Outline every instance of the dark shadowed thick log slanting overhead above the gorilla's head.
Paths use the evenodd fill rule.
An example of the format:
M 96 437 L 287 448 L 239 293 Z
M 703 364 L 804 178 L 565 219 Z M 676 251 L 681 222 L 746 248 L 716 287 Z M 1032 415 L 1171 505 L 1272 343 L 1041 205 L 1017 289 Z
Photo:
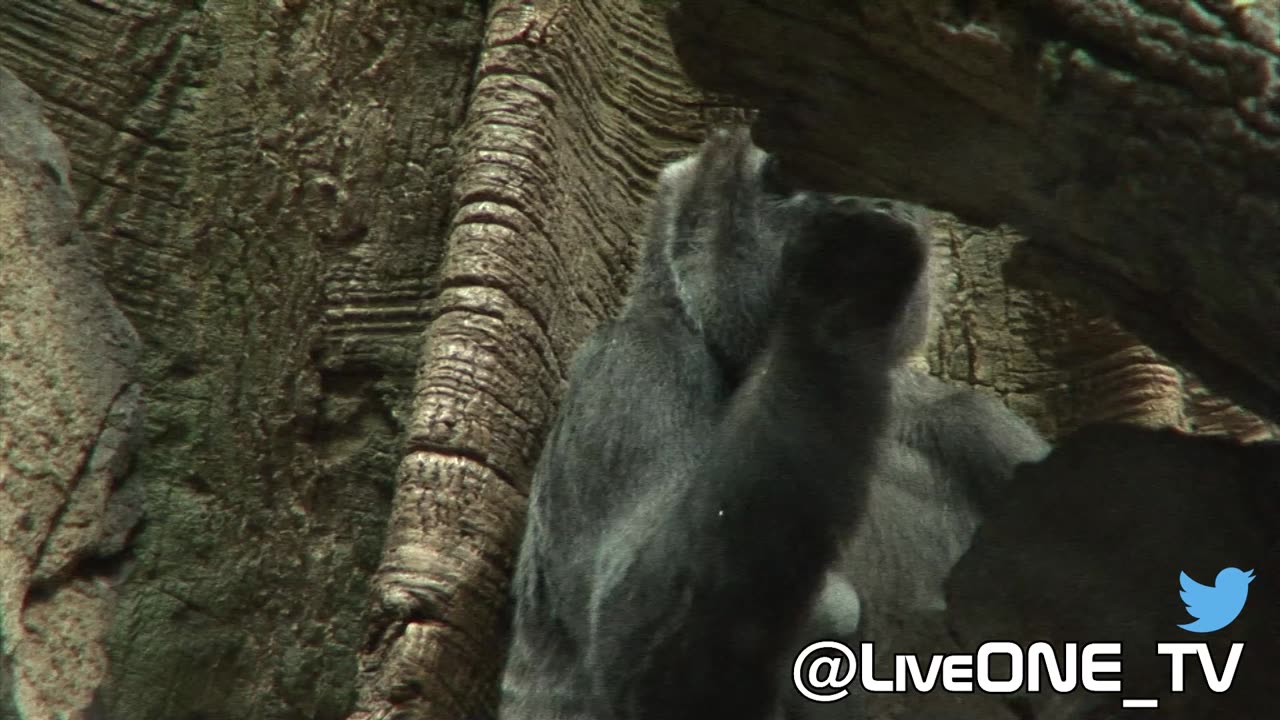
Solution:
M 818 187 L 1027 232 L 1020 277 L 1280 419 L 1280 8 L 685 0 L 692 78 Z

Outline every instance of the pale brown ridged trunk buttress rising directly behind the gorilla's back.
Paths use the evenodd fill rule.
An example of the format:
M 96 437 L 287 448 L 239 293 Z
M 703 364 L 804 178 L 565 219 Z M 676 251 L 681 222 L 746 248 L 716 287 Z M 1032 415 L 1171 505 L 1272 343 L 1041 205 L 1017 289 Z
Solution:
M 616 310 L 657 169 L 704 126 L 660 14 L 494 3 L 355 717 L 485 716 L 532 464 Z

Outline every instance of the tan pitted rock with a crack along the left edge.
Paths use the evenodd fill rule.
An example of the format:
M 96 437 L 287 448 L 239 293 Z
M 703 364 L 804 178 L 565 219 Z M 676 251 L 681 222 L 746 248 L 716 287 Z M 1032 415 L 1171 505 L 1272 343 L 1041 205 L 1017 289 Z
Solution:
M 141 429 L 138 337 L 77 227 L 38 96 L 0 68 L 0 717 L 78 716 L 106 678 Z

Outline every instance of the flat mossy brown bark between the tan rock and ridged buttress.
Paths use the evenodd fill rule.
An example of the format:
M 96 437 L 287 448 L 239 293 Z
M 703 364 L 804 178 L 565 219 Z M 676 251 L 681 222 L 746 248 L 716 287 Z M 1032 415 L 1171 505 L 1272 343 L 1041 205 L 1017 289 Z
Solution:
M 0 64 L 45 97 L 143 341 L 147 515 L 109 717 L 349 712 L 483 20 L 466 0 L 0 3 Z

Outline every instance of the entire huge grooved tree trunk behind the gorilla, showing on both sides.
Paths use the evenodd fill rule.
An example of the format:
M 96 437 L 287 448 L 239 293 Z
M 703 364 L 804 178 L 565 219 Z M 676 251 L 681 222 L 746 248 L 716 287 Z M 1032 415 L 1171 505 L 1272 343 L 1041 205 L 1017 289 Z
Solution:
M 29 0 L 0 4 L 0 64 L 68 145 L 146 391 L 120 486 L 145 516 L 108 548 L 128 580 L 96 626 L 65 628 L 104 662 L 22 716 L 83 708 L 91 685 L 128 720 L 489 715 L 572 352 L 625 293 L 658 169 L 741 122 L 736 101 L 687 85 L 643 0 Z M 874 82 L 905 82 L 893 68 Z M 946 115 L 975 81 L 956 82 L 922 102 Z M 868 167 L 886 174 L 865 187 L 901 187 Z M 1001 197 L 948 173 L 931 183 Z M 1098 419 L 1274 434 L 1097 311 L 1007 287 L 1019 236 L 947 218 L 934 240 L 934 374 L 1051 437 Z M 33 584 L 3 587 L 37 607 Z M 22 632 L 0 625 L 0 646 Z M 0 688 L 23 678 L 5 657 Z

